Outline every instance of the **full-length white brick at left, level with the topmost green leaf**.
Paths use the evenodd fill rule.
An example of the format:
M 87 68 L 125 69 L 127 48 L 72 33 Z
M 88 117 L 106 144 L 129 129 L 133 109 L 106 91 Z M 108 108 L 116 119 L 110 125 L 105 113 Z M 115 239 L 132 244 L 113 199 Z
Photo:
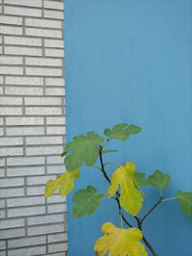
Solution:
M 43 135 L 44 127 L 14 127 L 6 129 L 7 135 Z

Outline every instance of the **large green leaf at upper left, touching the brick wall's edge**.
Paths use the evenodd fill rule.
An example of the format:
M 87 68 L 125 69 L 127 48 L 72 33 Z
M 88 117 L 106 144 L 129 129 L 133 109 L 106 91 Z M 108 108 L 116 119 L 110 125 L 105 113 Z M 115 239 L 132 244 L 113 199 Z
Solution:
M 93 166 L 98 158 L 98 148 L 104 141 L 94 132 L 80 135 L 73 138 L 65 147 L 66 155 L 64 164 L 68 171 L 72 171 L 80 166 Z

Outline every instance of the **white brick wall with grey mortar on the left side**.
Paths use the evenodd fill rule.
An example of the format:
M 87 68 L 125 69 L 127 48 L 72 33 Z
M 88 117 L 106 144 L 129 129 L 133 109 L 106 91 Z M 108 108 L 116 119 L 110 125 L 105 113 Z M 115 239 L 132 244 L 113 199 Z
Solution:
M 0 1 L 0 255 L 66 255 L 63 2 Z

